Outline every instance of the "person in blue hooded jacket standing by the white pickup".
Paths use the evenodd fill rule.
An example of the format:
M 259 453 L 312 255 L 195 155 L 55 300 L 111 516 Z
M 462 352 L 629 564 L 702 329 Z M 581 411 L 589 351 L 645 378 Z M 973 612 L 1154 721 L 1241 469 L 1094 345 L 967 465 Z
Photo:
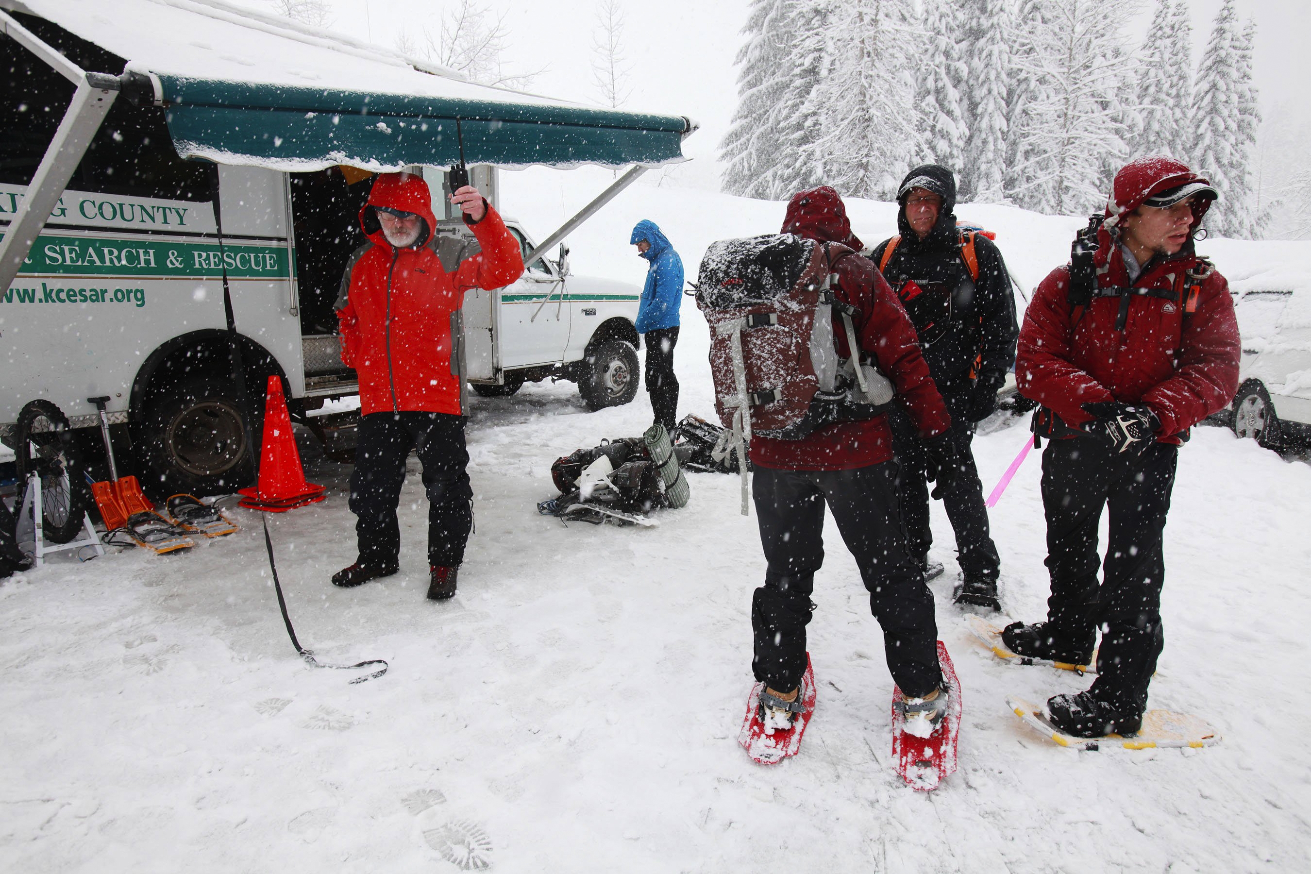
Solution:
M 633 228 L 629 242 L 650 262 L 636 325 L 646 345 L 646 392 L 652 396 L 656 422 L 673 432 L 678 410 L 674 345 L 678 343 L 678 307 L 683 301 L 683 259 L 656 223 L 646 219 Z

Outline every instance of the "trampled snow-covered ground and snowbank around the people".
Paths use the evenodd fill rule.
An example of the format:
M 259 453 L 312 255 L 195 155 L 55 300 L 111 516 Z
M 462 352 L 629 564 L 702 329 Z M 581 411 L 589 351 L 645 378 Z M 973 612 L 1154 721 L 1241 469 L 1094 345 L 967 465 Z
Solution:
M 608 174 L 507 178 L 507 212 L 544 237 Z M 518 186 L 518 187 L 515 187 Z M 566 187 L 568 186 L 568 187 Z M 638 187 L 570 240 L 578 273 L 641 280 L 628 232 L 659 223 L 688 276 L 718 237 L 770 232 L 783 206 Z M 852 204 L 857 232 L 893 207 Z M 961 207 L 995 228 L 1032 287 L 1075 219 Z M 1206 244 L 1222 270 L 1306 265 L 1311 245 Z M 1268 253 L 1268 256 L 1262 256 Z M 1245 273 L 1244 273 L 1245 271 Z M 683 309 L 679 414 L 711 415 L 705 324 Z M 384 658 L 349 685 L 292 651 L 258 514 L 170 557 L 56 560 L 0 584 L 0 870 L 7 871 L 1287 871 L 1311 848 L 1311 469 L 1201 427 L 1165 529 L 1165 653 L 1152 706 L 1224 735 L 1197 751 L 1072 752 L 1003 697 L 1087 680 L 995 660 L 950 605 L 953 544 L 935 504 L 939 628 L 964 687 L 960 770 L 905 788 L 889 757 L 891 681 L 878 626 L 831 527 L 810 653 L 819 684 L 801 753 L 754 765 L 737 746 L 750 687 L 751 590 L 764 571 L 735 480 L 690 474 L 658 528 L 539 516 L 549 465 L 640 434 L 645 393 L 589 414 L 569 384 L 475 402 L 476 533 L 459 595 L 423 598 L 426 507 L 406 482 L 401 574 L 355 590 L 349 468 L 302 443 L 326 502 L 269 518 L 296 632 L 320 658 Z M 991 489 L 1027 439 L 975 440 Z M 992 512 L 1011 616 L 1046 596 L 1040 465 Z M 231 501 L 224 502 L 231 506 Z M 1303 860 L 1298 862 L 1298 860 Z

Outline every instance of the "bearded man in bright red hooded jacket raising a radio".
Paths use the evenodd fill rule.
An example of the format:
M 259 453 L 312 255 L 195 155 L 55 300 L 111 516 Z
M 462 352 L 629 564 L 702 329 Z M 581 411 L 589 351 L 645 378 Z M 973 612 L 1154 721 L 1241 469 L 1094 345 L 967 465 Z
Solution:
M 359 586 L 400 569 L 396 506 L 417 449 L 427 491 L 427 596 L 455 595 L 473 522 L 465 466 L 460 307 L 468 288 L 501 288 L 523 273 L 519 244 L 497 211 L 464 186 L 451 195 L 476 241 L 438 235 L 427 183 L 409 173 L 374 182 L 337 300 L 342 362 L 359 375 L 361 421 L 350 510 L 359 558 L 333 575 Z

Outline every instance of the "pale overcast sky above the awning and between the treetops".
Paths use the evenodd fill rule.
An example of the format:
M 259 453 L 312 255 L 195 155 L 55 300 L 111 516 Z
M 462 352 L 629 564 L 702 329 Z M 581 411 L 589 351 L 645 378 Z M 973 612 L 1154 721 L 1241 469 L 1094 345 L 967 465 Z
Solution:
M 261 0 L 237 0 L 262 7 Z M 531 90 L 553 97 L 597 102 L 591 81 L 591 37 L 595 0 L 484 0 L 503 9 L 510 30 L 511 68 L 547 69 Z M 1193 12 L 1194 54 L 1201 56 L 1211 21 L 1222 0 L 1189 0 Z M 404 29 L 434 33 L 442 0 L 332 0 L 334 30 L 392 46 Z M 674 178 L 683 185 L 717 187 L 716 145 L 737 104 L 733 58 L 746 20 L 747 0 L 645 0 L 623 3 L 628 24 L 624 48 L 632 64 L 633 94 L 627 109 L 691 115 L 701 130 L 691 136 L 684 153 L 696 159 Z M 1131 39 L 1142 38 L 1154 8 L 1142 0 L 1142 13 L 1131 22 Z M 1304 96 L 1311 81 L 1311 0 L 1239 0 L 1242 20 L 1257 22 L 1256 80 L 1268 123 L 1291 117 L 1301 127 L 1311 121 Z

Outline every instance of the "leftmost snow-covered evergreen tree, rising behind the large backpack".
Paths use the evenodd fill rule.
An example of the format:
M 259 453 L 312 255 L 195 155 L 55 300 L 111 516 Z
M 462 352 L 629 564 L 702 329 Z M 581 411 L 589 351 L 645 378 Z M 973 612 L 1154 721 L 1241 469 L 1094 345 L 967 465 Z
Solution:
M 777 122 L 792 71 L 792 31 L 787 0 L 753 0 L 738 50 L 738 106 L 720 143 L 726 165 L 722 189 L 745 197 L 771 197 L 772 170 L 787 160 Z

